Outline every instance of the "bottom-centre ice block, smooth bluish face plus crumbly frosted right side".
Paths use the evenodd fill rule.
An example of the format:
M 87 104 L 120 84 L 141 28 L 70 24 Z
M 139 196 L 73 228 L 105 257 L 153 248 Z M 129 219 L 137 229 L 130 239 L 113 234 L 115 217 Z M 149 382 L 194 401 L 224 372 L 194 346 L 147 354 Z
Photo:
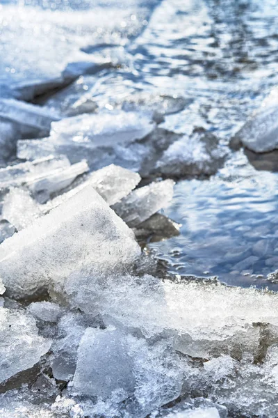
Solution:
M 103 400 L 116 395 L 117 403 L 133 395 L 126 410 L 130 416 L 145 417 L 177 398 L 181 384 L 177 355 L 164 341 L 149 345 L 113 327 L 85 331 L 73 380 L 77 394 Z

